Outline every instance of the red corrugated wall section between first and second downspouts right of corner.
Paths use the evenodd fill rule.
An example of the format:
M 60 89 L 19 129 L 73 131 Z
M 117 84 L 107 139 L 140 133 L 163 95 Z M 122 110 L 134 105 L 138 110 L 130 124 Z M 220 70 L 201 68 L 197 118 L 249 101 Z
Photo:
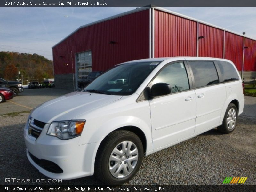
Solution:
M 223 58 L 223 30 L 199 23 L 198 56 Z

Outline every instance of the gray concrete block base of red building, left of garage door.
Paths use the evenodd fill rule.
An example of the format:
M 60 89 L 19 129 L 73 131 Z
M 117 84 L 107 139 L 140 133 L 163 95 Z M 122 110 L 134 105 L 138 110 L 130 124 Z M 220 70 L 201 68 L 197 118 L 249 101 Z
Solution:
M 76 79 L 74 74 L 74 85 L 76 90 Z M 56 89 L 74 89 L 73 74 L 58 74 L 54 75 L 54 84 Z

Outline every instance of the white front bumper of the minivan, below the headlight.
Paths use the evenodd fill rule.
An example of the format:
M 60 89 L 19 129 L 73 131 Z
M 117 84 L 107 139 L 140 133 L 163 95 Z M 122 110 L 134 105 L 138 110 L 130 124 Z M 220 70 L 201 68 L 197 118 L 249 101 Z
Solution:
M 78 145 L 80 137 L 61 140 L 46 135 L 50 124 L 45 124 L 39 137 L 28 134 L 28 123 L 24 128 L 24 139 L 27 147 L 27 157 L 39 172 L 53 179 L 75 179 L 93 175 L 93 153 L 97 143 Z M 42 162 L 57 165 L 59 173 L 47 169 Z M 56 166 L 55 166 L 56 168 Z

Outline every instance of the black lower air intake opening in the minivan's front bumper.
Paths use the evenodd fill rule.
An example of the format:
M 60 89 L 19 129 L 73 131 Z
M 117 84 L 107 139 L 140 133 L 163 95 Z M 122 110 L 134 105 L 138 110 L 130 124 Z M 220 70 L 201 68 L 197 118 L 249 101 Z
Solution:
M 63 173 L 63 170 L 56 163 L 45 159 L 38 159 L 37 157 L 33 156 L 29 151 L 28 154 L 38 166 L 42 167 L 46 171 L 52 173 Z

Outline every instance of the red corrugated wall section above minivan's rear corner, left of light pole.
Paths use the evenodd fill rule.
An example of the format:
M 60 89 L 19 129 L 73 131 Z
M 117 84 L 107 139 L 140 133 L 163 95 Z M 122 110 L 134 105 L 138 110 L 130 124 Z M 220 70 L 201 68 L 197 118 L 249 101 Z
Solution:
M 243 37 L 225 31 L 225 59 L 231 60 L 237 70 L 242 70 Z

